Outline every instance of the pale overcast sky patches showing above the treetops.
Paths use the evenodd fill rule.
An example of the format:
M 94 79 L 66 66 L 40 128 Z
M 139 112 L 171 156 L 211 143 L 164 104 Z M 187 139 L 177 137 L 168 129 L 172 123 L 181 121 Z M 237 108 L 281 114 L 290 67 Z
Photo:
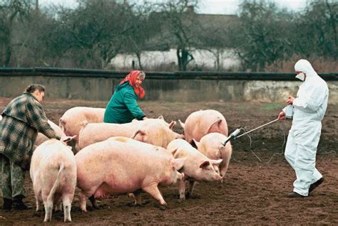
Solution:
M 299 11 L 303 9 L 307 3 L 307 0 L 274 0 L 274 1 L 278 6 L 293 11 Z M 78 5 L 76 0 L 40 0 L 39 2 L 41 6 L 48 6 L 50 4 L 61 4 L 65 7 L 75 8 Z M 200 9 L 198 10 L 198 13 L 236 14 L 239 4 L 240 4 L 239 0 L 200 0 Z

